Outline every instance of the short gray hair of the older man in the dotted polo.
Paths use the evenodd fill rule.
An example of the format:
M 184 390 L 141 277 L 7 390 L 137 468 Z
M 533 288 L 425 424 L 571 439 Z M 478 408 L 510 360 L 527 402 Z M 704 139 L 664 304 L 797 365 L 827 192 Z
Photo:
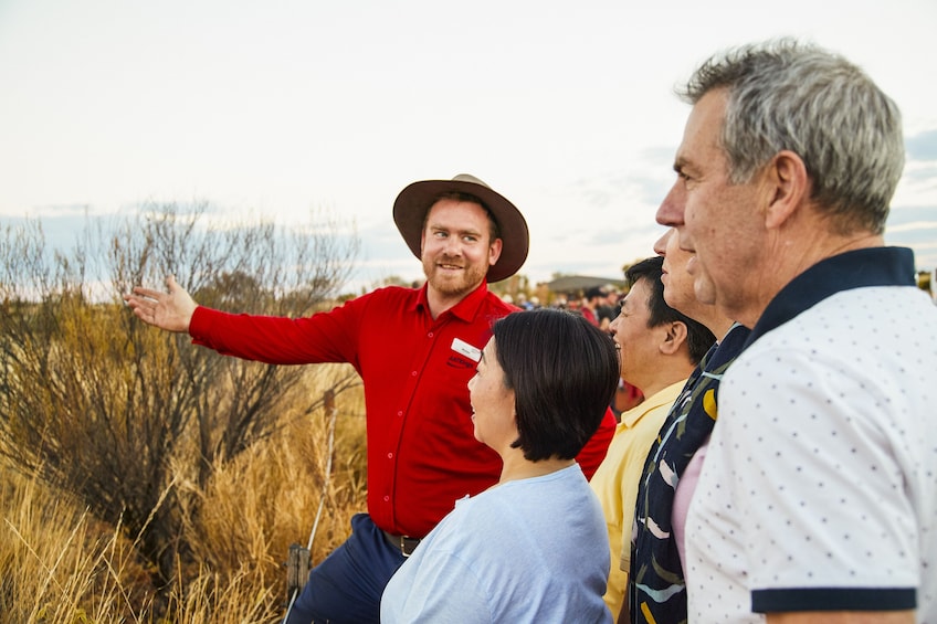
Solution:
M 901 112 L 853 63 L 790 39 L 709 57 L 677 95 L 726 89 L 722 146 L 733 183 L 781 150 L 800 156 L 811 199 L 841 234 L 882 234 L 904 168 Z

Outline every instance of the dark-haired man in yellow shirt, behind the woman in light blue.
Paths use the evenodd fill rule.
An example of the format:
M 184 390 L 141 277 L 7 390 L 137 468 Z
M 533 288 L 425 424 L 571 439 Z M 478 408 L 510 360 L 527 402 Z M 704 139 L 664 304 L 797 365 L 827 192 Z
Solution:
M 664 300 L 663 260 L 650 257 L 625 272 L 631 290 L 609 328 L 621 353 L 621 378 L 645 396 L 621 415 L 606 458 L 590 482 L 609 531 L 611 572 L 604 599 L 614 618 L 628 585 L 629 562 L 620 559 L 630 547 L 622 549 L 622 543 L 631 540 L 638 480 L 648 450 L 687 377 L 716 340 L 705 326 Z

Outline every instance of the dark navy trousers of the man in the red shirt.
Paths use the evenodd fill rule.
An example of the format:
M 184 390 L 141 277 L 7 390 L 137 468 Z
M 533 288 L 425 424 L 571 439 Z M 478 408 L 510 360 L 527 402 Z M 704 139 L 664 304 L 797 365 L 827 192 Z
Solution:
M 383 588 L 404 558 L 367 514 L 351 518 L 351 536 L 309 572 L 287 624 L 380 622 Z

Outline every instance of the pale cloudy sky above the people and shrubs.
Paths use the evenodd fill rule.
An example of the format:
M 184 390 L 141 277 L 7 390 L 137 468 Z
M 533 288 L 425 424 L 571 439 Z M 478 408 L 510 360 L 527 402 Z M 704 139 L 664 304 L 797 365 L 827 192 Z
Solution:
M 421 277 L 391 205 L 468 172 L 527 218 L 520 273 L 621 278 L 663 232 L 688 107 L 727 46 L 791 35 L 863 66 L 908 148 L 889 244 L 937 266 L 935 0 L 0 0 L 0 225 L 147 201 L 354 219 L 355 279 Z M 56 239 L 61 240 L 61 239 Z

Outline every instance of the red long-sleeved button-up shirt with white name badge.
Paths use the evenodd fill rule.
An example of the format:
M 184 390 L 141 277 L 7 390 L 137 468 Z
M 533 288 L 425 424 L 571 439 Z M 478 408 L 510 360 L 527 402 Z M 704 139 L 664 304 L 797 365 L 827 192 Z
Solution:
M 483 283 L 434 320 L 425 286 L 388 287 L 299 319 L 199 307 L 189 334 L 220 353 L 267 363 L 351 363 L 365 387 L 368 511 L 383 530 L 422 537 L 456 499 L 501 475 L 501 457 L 474 437 L 467 383 L 477 363 L 471 347 L 481 352 L 492 322 L 515 310 Z M 579 455 L 587 477 L 614 425 L 609 411 Z

